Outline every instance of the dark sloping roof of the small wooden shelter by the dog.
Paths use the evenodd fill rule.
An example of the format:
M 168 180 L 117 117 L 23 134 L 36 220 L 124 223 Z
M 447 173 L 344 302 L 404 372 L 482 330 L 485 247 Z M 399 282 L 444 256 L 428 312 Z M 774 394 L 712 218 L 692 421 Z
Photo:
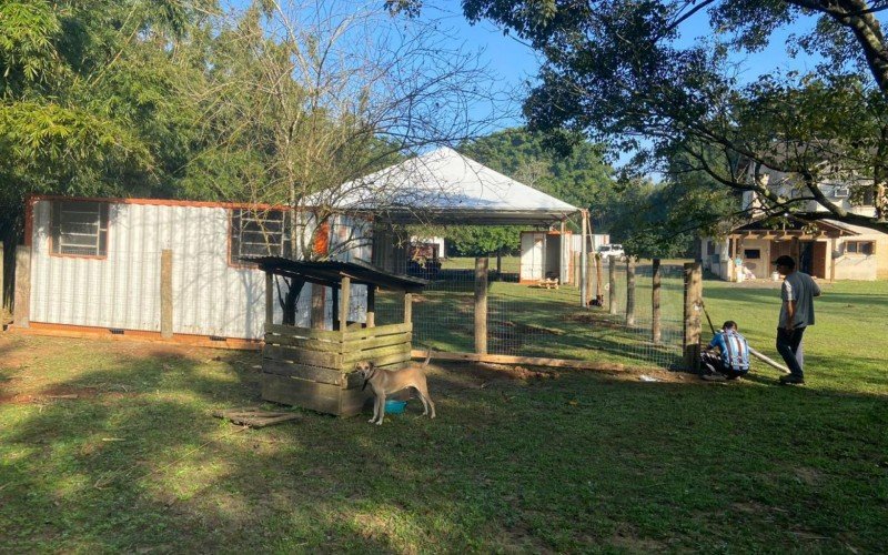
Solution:
M 281 256 L 244 256 L 241 260 L 256 264 L 263 272 L 330 287 L 340 286 L 343 278 L 349 278 L 353 284 L 408 293 L 421 291 L 428 284 L 428 280 L 386 272 L 363 261 L 307 262 Z

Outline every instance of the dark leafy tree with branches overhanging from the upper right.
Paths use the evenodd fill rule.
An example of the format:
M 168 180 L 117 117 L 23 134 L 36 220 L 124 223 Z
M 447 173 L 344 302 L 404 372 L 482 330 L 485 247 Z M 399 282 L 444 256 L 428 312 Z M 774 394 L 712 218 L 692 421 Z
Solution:
M 888 44 L 877 18 L 888 1 L 464 0 L 463 8 L 544 56 L 524 109 L 553 145 L 568 149 L 577 135 L 607 141 L 638 151 L 640 171 L 703 172 L 753 191 L 767 213 L 814 201 L 826 212 L 808 218 L 888 231 Z M 712 34 L 682 37 L 683 26 L 706 16 Z M 816 26 L 793 38 L 793 53 L 823 62 L 808 73 L 769 68 L 743 80 L 731 54 L 760 50 L 803 18 Z M 757 179 L 764 168 L 789 175 L 795 195 Z M 826 198 L 819 184 L 834 180 L 871 194 L 875 215 Z

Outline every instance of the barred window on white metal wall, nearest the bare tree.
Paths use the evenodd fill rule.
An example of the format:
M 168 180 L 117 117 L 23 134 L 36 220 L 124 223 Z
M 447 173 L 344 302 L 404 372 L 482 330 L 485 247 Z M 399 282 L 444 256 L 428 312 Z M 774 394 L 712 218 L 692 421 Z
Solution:
M 290 253 L 289 218 L 281 210 L 235 209 L 231 212 L 229 260 L 242 256 L 286 256 Z

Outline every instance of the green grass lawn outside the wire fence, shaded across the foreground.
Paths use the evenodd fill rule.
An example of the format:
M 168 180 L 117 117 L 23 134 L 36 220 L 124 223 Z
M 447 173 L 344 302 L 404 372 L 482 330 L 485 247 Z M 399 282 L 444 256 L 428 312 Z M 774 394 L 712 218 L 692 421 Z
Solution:
M 773 354 L 744 285 L 707 307 Z M 255 354 L 0 335 L 0 552 L 879 552 L 888 282 L 824 289 L 804 387 L 436 366 L 381 427 L 213 418 Z

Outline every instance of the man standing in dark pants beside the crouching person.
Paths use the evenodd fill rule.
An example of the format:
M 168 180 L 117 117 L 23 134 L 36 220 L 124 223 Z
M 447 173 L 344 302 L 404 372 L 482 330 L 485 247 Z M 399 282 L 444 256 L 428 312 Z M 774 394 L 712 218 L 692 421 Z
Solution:
M 780 383 L 804 384 L 801 336 L 807 326 L 814 325 L 814 297 L 820 296 L 820 287 L 810 275 L 796 271 L 796 261 L 791 256 L 778 256 L 774 264 L 777 266 L 777 272 L 784 276 L 777 351 L 790 372 L 789 375 L 780 377 Z

